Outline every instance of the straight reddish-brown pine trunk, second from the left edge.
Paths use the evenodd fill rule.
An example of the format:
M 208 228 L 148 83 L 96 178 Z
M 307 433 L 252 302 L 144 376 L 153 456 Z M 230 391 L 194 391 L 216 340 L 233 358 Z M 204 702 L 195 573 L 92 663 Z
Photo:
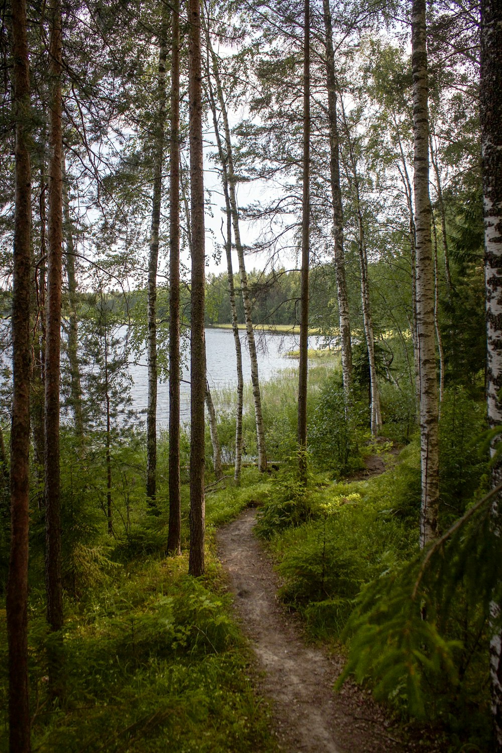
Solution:
M 61 347 L 62 286 L 62 120 L 61 120 L 61 5 L 50 5 L 50 159 L 49 238 L 47 248 L 47 325 L 45 347 L 45 578 L 47 621 L 53 632 L 62 628 L 61 522 L 59 498 L 59 353 Z M 61 636 L 62 640 L 62 636 Z M 56 646 L 56 643 L 53 644 Z M 53 696 L 61 693 L 59 651 L 50 651 L 49 683 Z

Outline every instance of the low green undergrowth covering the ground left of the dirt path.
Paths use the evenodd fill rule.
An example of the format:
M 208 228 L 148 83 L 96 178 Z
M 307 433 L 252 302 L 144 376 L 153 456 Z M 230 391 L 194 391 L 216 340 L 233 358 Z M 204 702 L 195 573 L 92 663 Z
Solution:
M 208 495 L 209 544 L 211 526 L 238 514 L 252 489 Z M 162 517 L 151 517 L 143 530 L 136 527 L 134 544 L 118 541 L 81 553 L 87 587 L 79 599 L 65 599 L 64 697 L 56 706 L 47 698 L 44 597 L 41 586 L 32 591 L 33 750 L 275 750 L 268 708 L 254 691 L 251 651 L 231 614 L 213 547 L 205 577 L 195 579 L 187 575 L 186 550 L 175 558 L 145 554 L 161 540 L 165 546 Z M 0 633 L 0 751 L 7 751 L 5 611 Z

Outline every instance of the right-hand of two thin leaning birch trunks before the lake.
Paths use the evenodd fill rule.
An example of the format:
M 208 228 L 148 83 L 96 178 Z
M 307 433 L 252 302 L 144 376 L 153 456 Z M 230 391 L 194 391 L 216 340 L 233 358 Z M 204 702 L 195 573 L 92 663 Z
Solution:
M 228 166 L 228 184 L 230 207 L 232 209 L 233 235 L 236 240 L 237 258 L 239 259 L 239 276 L 241 280 L 242 303 L 244 306 L 246 334 L 248 337 L 249 358 L 251 361 L 251 385 L 253 388 L 254 416 L 256 419 L 257 447 L 258 447 L 258 468 L 260 471 L 266 471 L 266 450 L 265 450 L 265 426 L 263 424 L 263 415 L 261 410 L 260 395 L 260 378 L 258 376 L 258 359 L 256 352 L 256 343 L 254 341 L 253 319 L 251 314 L 251 298 L 248 289 L 248 276 L 246 274 L 244 247 L 241 241 L 239 228 L 239 208 L 237 206 L 236 196 L 236 174 L 233 167 L 232 142 L 230 139 L 230 124 L 228 120 L 227 105 L 225 104 L 223 89 L 221 87 L 220 72 L 218 70 L 218 59 L 211 47 L 211 40 L 206 29 L 206 40 L 209 52 L 211 53 L 211 62 L 220 104 L 221 116 L 224 122 L 227 166 Z

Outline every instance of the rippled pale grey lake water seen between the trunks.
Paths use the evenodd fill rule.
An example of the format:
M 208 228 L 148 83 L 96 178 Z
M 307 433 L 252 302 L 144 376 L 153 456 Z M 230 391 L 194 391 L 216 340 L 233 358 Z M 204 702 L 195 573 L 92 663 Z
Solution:
M 246 333 L 239 331 L 242 344 L 242 371 L 245 383 L 251 383 L 251 361 Z M 287 358 L 286 352 L 299 349 L 299 335 L 255 332 L 260 381 L 271 379 L 284 368 L 298 368 L 298 361 Z M 317 337 L 310 338 L 309 347 L 317 346 Z M 211 390 L 237 386 L 236 348 L 231 329 L 205 329 L 206 373 Z M 189 354 L 186 356 L 190 358 Z M 132 407 L 145 416 L 148 399 L 148 370 L 146 356 L 130 367 L 133 380 Z M 190 365 L 184 367 L 181 383 L 181 420 L 190 420 Z M 157 428 L 169 426 L 169 384 L 157 387 Z

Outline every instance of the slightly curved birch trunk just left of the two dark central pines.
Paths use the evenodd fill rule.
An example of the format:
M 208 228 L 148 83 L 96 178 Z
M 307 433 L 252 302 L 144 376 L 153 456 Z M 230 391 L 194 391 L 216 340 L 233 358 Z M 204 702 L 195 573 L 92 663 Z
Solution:
M 150 258 L 148 261 L 148 407 L 147 407 L 147 498 L 156 507 L 157 491 L 157 264 L 159 258 L 160 202 L 166 127 L 167 5 L 162 5 L 157 78 L 158 112 L 154 128 L 154 197 L 151 211 Z

